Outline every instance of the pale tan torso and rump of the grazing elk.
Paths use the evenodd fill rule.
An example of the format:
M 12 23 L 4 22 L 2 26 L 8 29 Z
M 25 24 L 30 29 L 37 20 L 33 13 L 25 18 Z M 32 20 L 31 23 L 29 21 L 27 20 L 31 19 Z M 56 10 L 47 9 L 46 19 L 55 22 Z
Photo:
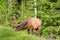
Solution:
M 28 28 L 36 29 L 37 27 L 40 27 L 42 24 L 42 21 L 38 18 L 28 18 L 26 21 L 28 22 L 27 24 Z

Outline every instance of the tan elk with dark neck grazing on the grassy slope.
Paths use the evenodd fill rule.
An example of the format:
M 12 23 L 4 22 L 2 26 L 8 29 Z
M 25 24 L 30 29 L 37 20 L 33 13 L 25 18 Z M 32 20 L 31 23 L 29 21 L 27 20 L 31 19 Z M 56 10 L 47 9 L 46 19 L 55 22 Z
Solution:
M 37 36 L 40 36 L 41 25 L 42 21 L 38 18 L 26 18 L 20 24 L 17 23 L 16 26 L 13 26 L 16 27 L 16 31 L 27 29 L 28 34 L 30 34 L 30 30 L 32 31 L 32 34 L 34 34 L 33 30 L 36 30 Z

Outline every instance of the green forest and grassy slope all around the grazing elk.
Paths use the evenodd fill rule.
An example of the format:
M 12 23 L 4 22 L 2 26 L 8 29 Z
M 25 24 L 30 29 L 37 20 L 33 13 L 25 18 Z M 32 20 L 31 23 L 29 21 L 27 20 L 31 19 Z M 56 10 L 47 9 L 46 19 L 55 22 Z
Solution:
M 27 29 L 19 32 L 13 26 L 24 18 L 42 20 L 40 37 L 28 34 Z M 60 0 L 0 0 L 0 40 L 60 40 Z

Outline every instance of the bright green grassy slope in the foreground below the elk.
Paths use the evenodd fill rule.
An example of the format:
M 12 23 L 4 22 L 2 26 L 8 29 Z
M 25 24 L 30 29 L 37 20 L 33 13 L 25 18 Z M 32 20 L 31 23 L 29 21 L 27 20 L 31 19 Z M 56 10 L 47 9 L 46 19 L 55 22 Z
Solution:
M 60 36 L 57 36 L 56 40 L 59 40 Z M 37 37 L 27 33 L 27 30 L 16 32 L 11 27 L 0 27 L 0 40 L 48 40 L 46 37 Z

